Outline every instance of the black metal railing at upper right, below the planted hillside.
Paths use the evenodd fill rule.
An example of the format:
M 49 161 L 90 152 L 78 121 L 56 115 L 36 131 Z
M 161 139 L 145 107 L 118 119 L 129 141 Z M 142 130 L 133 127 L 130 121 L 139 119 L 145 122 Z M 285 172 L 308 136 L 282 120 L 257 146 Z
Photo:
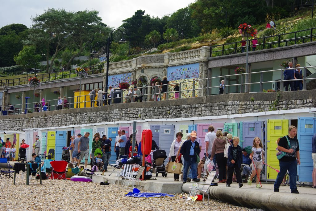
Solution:
M 261 38 L 256 38 L 258 40 L 258 44 L 256 50 L 263 50 L 263 49 L 270 49 L 274 47 L 281 47 L 297 44 L 298 42 L 306 43 L 313 41 L 313 38 L 316 38 L 315 32 L 316 27 L 305 29 L 296 32 L 289 32 L 284 34 L 277 34 L 272 36 L 266 36 Z M 301 33 L 309 32 L 309 35 L 299 36 Z M 283 36 L 291 37 L 293 35 L 294 38 L 283 39 Z M 251 42 L 248 42 L 248 48 L 251 47 Z M 246 46 L 245 46 L 246 47 Z M 221 45 L 213 45 L 210 46 L 210 57 L 214 56 L 224 56 L 230 54 L 237 54 L 241 52 L 241 41 L 234 42 L 234 43 L 226 43 Z M 246 52 L 246 51 L 244 51 Z

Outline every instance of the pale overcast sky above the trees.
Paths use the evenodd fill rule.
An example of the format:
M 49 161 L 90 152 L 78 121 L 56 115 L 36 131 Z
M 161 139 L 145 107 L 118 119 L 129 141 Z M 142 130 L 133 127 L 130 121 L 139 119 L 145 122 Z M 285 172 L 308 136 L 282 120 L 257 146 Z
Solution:
M 103 23 L 110 27 L 119 27 L 122 20 L 134 15 L 138 9 L 161 18 L 193 2 L 195 0 L 0 0 L 0 27 L 12 23 L 22 23 L 30 27 L 31 17 L 43 14 L 47 8 L 63 8 L 67 11 L 98 10 Z

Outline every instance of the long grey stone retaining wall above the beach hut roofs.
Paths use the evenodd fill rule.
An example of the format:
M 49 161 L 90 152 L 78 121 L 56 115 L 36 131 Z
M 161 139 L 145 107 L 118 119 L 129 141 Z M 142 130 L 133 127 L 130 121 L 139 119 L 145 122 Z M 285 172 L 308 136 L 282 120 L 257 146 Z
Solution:
M 0 130 L 263 112 L 271 109 L 276 98 L 277 93 L 240 93 L 0 116 Z M 310 90 L 281 92 L 279 99 L 276 110 L 316 107 L 316 96 Z

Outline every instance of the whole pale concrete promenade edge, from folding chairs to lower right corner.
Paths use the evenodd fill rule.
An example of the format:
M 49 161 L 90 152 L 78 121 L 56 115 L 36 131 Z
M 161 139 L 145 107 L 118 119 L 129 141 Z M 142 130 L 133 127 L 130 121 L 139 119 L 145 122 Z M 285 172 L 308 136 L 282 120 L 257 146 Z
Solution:
M 109 168 L 110 170 L 110 168 Z M 115 173 L 111 176 L 109 172 L 104 173 L 104 176 L 100 172 L 94 175 L 93 182 L 100 183 L 108 181 L 110 184 L 114 184 Z M 156 178 L 155 175 L 153 178 Z M 120 183 L 123 183 L 123 179 L 119 179 Z M 216 179 L 215 182 L 218 180 Z M 167 177 L 158 175 L 157 179 L 149 179 L 140 181 L 140 186 L 146 191 L 162 192 L 162 193 L 181 193 L 188 192 L 191 187 L 191 183 L 182 183 L 181 181 L 173 181 L 173 174 L 168 173 Z M 238 206 L 248 208 L 261 208 L 264 210 L 279 210 L 279 211 L 309 211 L 316 210 L 316 189 L 310 186 L 298 186 L 300 194 L 292 194 L 289 185 L 281 186 L 280 192 L 275 193 L 273 191 L 272 183 L 262 183 L 262 188 L 257 189 L 255 184 L 249 186 L 244 183 L 242 188 L 238 188 L 237 183 L 233 183 L 230 188 L 226 187 L 226 184 L 218 184 L 218 186 L 210 187 L 210 198 L 216 199 L 222 202 L 232 203 Z

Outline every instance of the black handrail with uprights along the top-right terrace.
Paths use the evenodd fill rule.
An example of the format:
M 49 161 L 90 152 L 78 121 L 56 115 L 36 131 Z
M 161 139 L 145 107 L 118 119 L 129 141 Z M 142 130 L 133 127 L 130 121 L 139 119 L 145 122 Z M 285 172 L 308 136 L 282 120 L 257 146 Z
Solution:
M 257 40 L 261 40 L 262 42 L 258 42 L 257 46 L 262 46 L 262 49 L 269 49 L 272 48 L 272 45 L 277 44 L 277 47 L 281 46 L 281 43 L 285 43 L 285 46 L 288 46 L 288 44 L 291 44 L 289 42 L 294 41 L 294 44 L 297 44 L 297 41 L 302 40 L 303 43 L 312 41 L 313 38 L 315 38 L 316 34 L 313 34 L 313 30 L 316 29 L 314 28 L 309 28 L 309 29 L 304 29 L 300 31 L 295 31 L 295 32 L 288 32 L 284 34 L 277 34 L 277 35 L 271 35 L 271 36 L 266 36 L 266 37 L 261 37 L 261 38 L 256 38 Z M 307 32 L 310 31 L 310 35 L 305 35 L 301 37 L 297 37 L 297 34 L 300 32 Z M 282 36 L 284 35 L 289 35 L 289 34 L 294 34 L 294 38 L 289 38 L 289 39 L 281 39 Z M 277 40 L 274 40 L 277 38 Z M 269 41 L 269 39 L 271 41 Z M 210 57 L 212 56 L 224 56 L 232 53 L 239 53 L 241 46 L 238 46 L 241 41 L 233 42 L 233 43 L 226 43 L 226 44 L 221 44 L 221 45 L 213 45 L 210 46 Z M 225 49 L 225 46 L 228 46 L 227 49 Z M 234 46 L 233 48 L 230 46 Z M 250 47 L 250 42 L 248 42 L 248 47 Z M 218 49 L 218 50 L 216 50 Z M 233 52 L 230 52 L 230 50 L 234 50 Z M 228 53 L 227 53 L 228 51 Z M 237 52 L 238 51 L 238 52 Z M 220 55 L 213 55 L 216 52 L 221 52 Z M 225 54 L 226 53 L 226 54 Z

